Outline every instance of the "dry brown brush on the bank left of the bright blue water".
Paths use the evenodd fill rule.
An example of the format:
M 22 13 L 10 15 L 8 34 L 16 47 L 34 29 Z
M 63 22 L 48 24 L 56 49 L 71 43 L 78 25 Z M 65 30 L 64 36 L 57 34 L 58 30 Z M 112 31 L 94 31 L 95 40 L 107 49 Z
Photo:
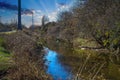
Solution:
M 7 48 L 13 53 L 13 67 L 9 71 L 11 80 L 45 80 L 43 52 L 36 40 L 20 31 L 6 36 Z

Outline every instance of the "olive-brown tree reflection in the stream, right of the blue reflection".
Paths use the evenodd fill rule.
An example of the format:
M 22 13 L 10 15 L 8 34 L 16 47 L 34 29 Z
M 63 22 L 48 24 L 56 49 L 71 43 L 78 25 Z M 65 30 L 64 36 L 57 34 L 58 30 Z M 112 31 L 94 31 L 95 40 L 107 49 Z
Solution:
M 77 77 L 85 79 L 111 79 L 112 72 L 118 73 L 115 76 L 119 76 L 119 72 L 114 69 L 119 69 L 114 62 L 116 62 L 113 56 L 113 63 L 109 58 L 109 52 L 84 50 L 74 51 L 72 43 L 65 41 L 57 41 L 52 39 L 47 41 L 47 45 L 50 49 L 63 55 L 59 57 L 60 61 L 64 65 L 71 67 L 71 71 L 77 74 Z M 113 69 L 111 69 L 113 67 Z M 115 77 L 114 75 L 112 75 Z M 119 79 L 119 78 L 116 78 Z

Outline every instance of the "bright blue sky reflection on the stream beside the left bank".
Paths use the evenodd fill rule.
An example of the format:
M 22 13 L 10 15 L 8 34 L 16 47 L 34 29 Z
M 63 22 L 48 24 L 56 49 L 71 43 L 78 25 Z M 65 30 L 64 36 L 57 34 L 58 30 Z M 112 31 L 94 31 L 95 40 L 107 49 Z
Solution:
M 67 80 L 70 77 L 70 72 L 65 69 L 64 65 L 62 65 L 58 60 L 58 53 L 55 51 L 47 50 L 47 54 L 45 56 L 46 65 L 47 65 L 47 73 L 50 74 L 54 80 Z

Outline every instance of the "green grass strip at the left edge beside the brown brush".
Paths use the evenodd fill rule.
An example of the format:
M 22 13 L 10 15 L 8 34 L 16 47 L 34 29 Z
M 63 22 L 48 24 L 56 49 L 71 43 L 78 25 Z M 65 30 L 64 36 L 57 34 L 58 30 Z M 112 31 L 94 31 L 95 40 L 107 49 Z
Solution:
M 0 79 L 6 74 L 11 67 L 11 54 L 4 46 L 4 38 L 0 37 Z

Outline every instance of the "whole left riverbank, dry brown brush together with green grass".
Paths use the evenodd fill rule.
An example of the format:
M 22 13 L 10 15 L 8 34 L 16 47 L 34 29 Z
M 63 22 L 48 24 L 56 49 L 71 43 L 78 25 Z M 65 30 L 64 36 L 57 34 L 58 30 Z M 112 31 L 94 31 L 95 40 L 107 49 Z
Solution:
M 10 54 L 2 53 L 1 51 L 5 51 L 3 48 L 0 48 L 0 56 L 2 56 L 0 61 L 4 64 L 7 64 L 9 61 L 11 62 L 10 68 L 4 64 L 3 67 L 0 66 L 2 70 L 1 80 L 49 79 L 49 76 L 45 73 L 43 47 L 37 42 L 36 36 L 31 34 L 34 33 L 30 31 L 17 31 L 10 34 L 1 34 L 5 40 L 5 48 Z

